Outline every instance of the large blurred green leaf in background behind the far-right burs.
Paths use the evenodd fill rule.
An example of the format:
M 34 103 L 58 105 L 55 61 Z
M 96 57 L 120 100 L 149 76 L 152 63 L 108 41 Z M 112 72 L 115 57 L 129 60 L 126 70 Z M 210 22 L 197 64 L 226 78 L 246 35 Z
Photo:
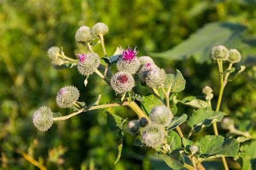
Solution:
M 205 25 L 196 33 L 190 36 L 183 43 L 159 53 L 151 53 L 154 57 L 161 57 L 170 60 L 184 60 L 191 56 L 197 62 L 209 60 L 209 54 L 213 46 L 225 45 L 236 47 L 234 42 L 246 30 L 246 26 L 228 22 L 215 22 Z

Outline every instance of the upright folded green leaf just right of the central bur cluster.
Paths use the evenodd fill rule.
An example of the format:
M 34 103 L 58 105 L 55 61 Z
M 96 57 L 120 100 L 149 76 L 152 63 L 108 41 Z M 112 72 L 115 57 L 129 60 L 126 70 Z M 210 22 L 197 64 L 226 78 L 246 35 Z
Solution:
M 164 86 L 167 94 L 170 94 L 170 92 L 181 92 L 185 89 L 186 80 L 183 78 L 179 70 L 176 71 L 177 73 L 175 75 L 167 74 L 165 79 Z

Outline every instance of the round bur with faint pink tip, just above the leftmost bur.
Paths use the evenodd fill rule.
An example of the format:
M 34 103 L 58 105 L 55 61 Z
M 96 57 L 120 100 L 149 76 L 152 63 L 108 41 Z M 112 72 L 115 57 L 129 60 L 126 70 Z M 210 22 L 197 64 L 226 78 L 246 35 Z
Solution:
M 75 86 L 62 87 L 56 96 L 56 103 L 60 108 L 71 107 L 77 102 L 79 95 L 79 90 Z

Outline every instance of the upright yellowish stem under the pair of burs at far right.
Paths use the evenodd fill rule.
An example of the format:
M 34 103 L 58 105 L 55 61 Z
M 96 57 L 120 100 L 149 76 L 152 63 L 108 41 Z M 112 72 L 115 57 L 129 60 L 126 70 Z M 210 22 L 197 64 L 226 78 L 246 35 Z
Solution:
M 223 74 L 223 61 L 222 60 L 217 60 L 218 62 L 218 66 L 219 66 L 219 73 L 220 73 L 220 90 L 219 90 L 219 98 L 218 98 L 218 103 L 216 106 L 216 110 L 215 111 L 219 111 L 220 110 L 220 104 L 221 104 L 221 99 L 223 97 L 223 92 L 224 92 L 224 74 Z M 232 66 L 232 65 L 231 65 Z M 217 122 L 214 121 L 213 122 L 213 131 L 215 135 L 219 135 L 218 133 L 218 128 L 217 128 Z M 227 161 L 225 159 L 225 157 L 221 157 L 221 160 L 223 162 L 224 168 L 225 170 L 228 170 L 228 166 L 227 166 Z

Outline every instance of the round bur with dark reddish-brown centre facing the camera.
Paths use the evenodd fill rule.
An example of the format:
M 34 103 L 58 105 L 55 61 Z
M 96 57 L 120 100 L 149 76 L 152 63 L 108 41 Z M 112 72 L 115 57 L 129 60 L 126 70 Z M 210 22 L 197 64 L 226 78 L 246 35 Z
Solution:
M 110 84 L 117 94 L 122 94 L 132 90 L 134 87 L 134 79 L 129 73 L 117 72 L 112 76 Z

